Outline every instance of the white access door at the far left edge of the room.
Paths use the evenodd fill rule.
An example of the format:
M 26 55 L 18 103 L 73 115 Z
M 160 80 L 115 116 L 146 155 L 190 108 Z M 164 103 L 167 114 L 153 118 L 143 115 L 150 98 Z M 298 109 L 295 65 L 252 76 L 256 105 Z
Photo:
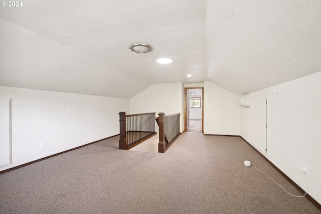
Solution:
M 11 98 L 0 97 L 0 167 L 11 164 L 10 102 Z

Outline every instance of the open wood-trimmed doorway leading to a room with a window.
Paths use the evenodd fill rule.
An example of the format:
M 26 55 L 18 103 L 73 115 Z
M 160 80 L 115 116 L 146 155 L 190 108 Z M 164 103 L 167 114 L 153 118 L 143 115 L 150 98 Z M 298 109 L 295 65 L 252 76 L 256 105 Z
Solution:
M 184 121 L 185 132 L 202 132 L 204 125 L 204 87 L 185 88 Z

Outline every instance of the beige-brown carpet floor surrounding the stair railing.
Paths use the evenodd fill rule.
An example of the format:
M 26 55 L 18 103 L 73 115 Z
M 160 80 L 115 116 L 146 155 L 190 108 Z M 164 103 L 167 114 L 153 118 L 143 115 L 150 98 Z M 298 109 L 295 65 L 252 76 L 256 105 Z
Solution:
M 0 213 L 321 213 L 239 137 L 186 132 L 162 153 L 118 137 L 0 174 Z

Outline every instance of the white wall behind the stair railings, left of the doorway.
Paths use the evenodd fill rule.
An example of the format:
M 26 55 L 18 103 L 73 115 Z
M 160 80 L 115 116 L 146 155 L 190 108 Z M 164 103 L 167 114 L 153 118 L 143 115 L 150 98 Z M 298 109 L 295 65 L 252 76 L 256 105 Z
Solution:
M 160 112 L 166 115 L 181 113 L 180 132 L 183 132 L 182 88 L 181 82 L 152 84 L 130 98 L 130 113 L 127 115 L 155 112 L 155 117 L 158 117 Z

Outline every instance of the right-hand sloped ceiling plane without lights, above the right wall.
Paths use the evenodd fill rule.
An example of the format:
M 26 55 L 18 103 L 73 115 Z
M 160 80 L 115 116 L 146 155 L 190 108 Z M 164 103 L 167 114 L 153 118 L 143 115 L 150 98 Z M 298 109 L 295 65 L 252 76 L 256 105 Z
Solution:
M 246 94 L 321 71 L 321 1 L 208 1 L 208 79 Z

